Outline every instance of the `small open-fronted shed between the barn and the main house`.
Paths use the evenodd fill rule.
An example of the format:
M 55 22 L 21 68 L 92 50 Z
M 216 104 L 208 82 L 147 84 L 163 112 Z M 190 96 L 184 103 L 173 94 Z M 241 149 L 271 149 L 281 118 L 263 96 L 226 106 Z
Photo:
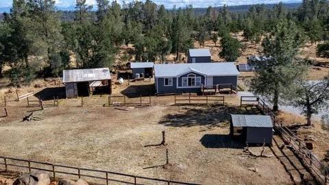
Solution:
M 132 78 L 152 77 L 153 66 L 153 62 L 130 62 L 130 68 L 132 69 Z

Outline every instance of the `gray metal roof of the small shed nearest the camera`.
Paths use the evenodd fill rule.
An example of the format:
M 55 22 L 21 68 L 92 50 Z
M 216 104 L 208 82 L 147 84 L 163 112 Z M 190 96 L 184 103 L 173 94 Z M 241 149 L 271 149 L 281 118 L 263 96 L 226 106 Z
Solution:
M 271 116 L 231 114 L 234 127 L 273 127 Z

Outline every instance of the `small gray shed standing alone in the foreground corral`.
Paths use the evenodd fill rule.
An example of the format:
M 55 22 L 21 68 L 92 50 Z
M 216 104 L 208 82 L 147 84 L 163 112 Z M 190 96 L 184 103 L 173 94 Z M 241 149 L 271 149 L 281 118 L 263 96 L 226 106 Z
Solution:
M 272 144 L 271 116 L 231 114 L 230 136 L 242 136 L 252 144 Z

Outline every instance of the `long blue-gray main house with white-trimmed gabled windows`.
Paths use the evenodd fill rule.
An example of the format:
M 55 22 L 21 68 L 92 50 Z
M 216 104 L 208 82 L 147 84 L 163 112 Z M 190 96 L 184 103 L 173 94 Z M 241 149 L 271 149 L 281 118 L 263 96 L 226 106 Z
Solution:
M 233 62 L 154 64 L 154 74 L 157 94 L 199 93 L 236 87 L 239 71 Z

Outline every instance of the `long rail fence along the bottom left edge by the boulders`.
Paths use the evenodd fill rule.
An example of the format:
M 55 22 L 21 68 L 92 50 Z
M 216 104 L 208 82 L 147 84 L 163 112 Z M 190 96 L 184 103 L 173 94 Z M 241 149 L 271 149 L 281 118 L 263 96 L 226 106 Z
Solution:
M 23 160 L 17 158 L 6 158 L 0 156 L 0 169 L 5 171 L 17 171 L 31 173 L 33 170 L 45 171 L 50 173 L 55 180 L 65 178 L 67 175 L 74 178 L 84 177 L 84 180 L 95 184 L 191 184 L 188 182 L 176 182 L 171 180 L 162 180 L 138 175 L 129 175 L 112 171 L 103 171 L 95 169 L 85 169 L 69 167 L 60 164 L 51 164 L 47 162 L 37 162 L 33 160 Z M 64 176 L 63 176 L 64 175 Z M 197 184 L 195 184 L 197 185 Z

